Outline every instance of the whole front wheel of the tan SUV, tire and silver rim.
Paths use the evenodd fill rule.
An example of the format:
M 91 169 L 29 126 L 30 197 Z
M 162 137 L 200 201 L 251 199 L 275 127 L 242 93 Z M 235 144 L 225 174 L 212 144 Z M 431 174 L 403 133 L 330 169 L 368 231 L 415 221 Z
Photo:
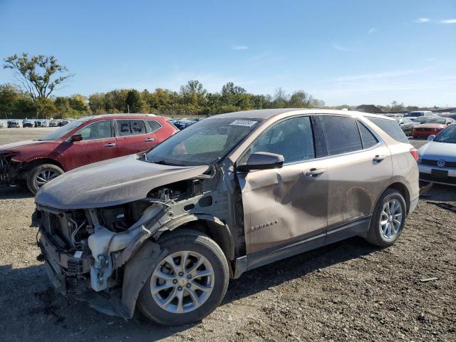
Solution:
M 161 260 L 154 261 L 152 274 L 140 291 L 138 307 L 147 318 L 165 326 L 201 321 L 219 306 L 227 292 L 229 268 L 222 249 L 207 235 L 187 229 L 172 232 L 164 239 L 159 239 L 158 243 L 162 249 L 167 249 L 167 254 L 160 258 Z M 180 270 L 180 263 L 184 258 L 180 256 L 185 252 L 189 252 L 184 267 L 185 273 L 179 276 L 180 272 L 176 273 L 176 271 Z M 192 268 L 197 265 L 197 260 L 204 260 L 196 259 L 198 255 L 204 257 L 205 261 L 195 271 Z M 177 267 L 169 267 L 171 264 L 168 261 L 173 262 Z M 176 262 L 179 264 L 177 265 Z M 211 274 L 211 271 L 212 275 L 195 276 L 188 280 L 187 271 L 192 276 L 196 273 Z M 166 282 L 160 278 L 164 273 L 169 277 Z M 163 285 L 168 288 L 157 290 Z M 153 295 L 152 289 L 155 290 Z M 197 301 L 194 300 L 195 295 L 198 296 Z M 179 296 L 182 297 L 182 301 L 179 300 Z M 159 301 L 162 306 L 159 305 Z M 168 304 L 166 304 L 167 301 L 169 301 Z

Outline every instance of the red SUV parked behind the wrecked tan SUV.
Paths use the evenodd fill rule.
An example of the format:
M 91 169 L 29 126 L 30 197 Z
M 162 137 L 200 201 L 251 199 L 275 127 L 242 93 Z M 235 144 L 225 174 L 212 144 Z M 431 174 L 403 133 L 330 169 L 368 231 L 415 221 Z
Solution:
M 150 150 L 177 133 L 155 115 L 97 115 L 70 121 L 38 140 L 0 146 L 0 183 L 26 182 L 35 194 L 46 182 L 92 162 Z

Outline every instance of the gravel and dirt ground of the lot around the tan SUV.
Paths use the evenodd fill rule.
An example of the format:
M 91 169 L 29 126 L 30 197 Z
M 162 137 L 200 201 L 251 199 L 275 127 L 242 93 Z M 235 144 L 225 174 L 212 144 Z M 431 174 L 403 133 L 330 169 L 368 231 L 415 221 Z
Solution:
M 46 130 L 3 129 L 0 145 Z M 166 328 L 54 294 L 36 261 L 33 197 L 5 188 L 1 341 L 456 341 L 456 214 L 427 201 L 456 204 L 456 188 L 435 186 L 420 199 L 393 247 L 354 238 L 263 266 L 231 281 L 204 321 Z

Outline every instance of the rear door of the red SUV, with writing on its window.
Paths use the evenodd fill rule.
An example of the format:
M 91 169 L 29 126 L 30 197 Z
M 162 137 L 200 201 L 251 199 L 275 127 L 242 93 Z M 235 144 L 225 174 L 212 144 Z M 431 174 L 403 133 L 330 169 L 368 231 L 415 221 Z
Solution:
M 132 155 L 133 153 L 149 150 L 155 144 L 155 138 L 147 133 L 146 124 L 141 119 L 118 119 L 115 138 L 117 140 L 118 155 Z

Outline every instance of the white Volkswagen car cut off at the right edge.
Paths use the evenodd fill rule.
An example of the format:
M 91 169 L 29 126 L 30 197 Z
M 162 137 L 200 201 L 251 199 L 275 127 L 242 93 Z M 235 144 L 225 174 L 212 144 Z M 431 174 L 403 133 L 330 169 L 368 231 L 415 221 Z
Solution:
M 418 151 L 420 180 L 456 186 L 456 124 L 427 139 Z

